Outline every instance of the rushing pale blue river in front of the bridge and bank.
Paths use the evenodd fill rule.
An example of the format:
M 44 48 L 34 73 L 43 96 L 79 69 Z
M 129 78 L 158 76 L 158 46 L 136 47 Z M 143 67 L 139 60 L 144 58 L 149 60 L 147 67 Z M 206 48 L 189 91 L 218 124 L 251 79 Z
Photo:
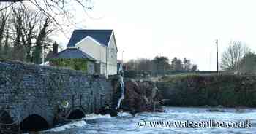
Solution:
M 132 117 L 131 114 L 121 112 L 118 117 L 109 115 L 89 114 L 83 119 L 77 119 L 67 125 L 45 130 L 42 134 L 93 134 L 93 133 L 110 133 L 110 134 L 144 134 L 144 133 L 188 133 L 188 134 L 207 134 L 207 133 L 256 133 L 256 109 L 244 109 L 237 112 L 236 109 L 225 108 L 225 112 L 210 112 L 208 108 L 181 108 L 181 107 L 164 107 L 165 112 L 143 112 Z M 230 128 L 230 127 L 202 127 L 200 122 L 250 122 L 249 128 Z M 172 122 L 170 127 L 165 125 L 156 125 L 154 122 Z M 153 124 L 152 124 L 153 122 Z M 174 122 L 193 123 L 199 127 L 183 128 L 182 126 L 173 127 Z M 178 124 L 176 124 L 178 125 Z M 181 124 L 179 124 L 181 125 Z M 183 124 L 184 125 L 184 124 Z M 201 125 L 201 126 L 200 126 Z M 226 124 L 225 124 L 226 125 Z M 248 127 L 244 124 L 236 127 Z

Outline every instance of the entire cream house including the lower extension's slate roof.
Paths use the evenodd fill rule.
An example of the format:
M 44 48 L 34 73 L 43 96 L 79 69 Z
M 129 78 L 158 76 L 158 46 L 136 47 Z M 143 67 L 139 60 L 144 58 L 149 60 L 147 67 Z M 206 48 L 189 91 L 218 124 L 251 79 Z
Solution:
M 51 59 L 86 59 L 94 72 L 108 76 L 117 73 L 117 52 L 113 30 L 75 30 L 67 49 Z

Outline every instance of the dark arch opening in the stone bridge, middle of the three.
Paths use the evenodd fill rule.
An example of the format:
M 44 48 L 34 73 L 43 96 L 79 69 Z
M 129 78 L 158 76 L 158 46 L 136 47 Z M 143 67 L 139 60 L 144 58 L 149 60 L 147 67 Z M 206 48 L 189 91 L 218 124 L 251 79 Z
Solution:
M 23 133 L 42 131 L 49 128 L 48 122 L 37 114 L 31 114 L 20 122 L 20 130 Z

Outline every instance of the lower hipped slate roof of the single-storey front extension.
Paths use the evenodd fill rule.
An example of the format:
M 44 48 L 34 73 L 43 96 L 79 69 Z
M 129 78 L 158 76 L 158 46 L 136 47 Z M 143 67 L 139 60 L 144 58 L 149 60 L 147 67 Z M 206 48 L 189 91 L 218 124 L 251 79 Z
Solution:
M 66 50 L 57 53 L 53 58 L 87 58 L 89 60 L 95 60 L 90 55 L 87 55 L 77 48 L 67 48 Z

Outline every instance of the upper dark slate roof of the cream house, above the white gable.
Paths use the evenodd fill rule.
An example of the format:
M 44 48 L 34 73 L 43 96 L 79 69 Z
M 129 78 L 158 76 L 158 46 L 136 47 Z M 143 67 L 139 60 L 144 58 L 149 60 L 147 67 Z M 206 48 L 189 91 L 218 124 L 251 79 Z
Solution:
M 75 30 L 72 33 L 67 47 L 74 47 L 76 43 L 86 38 L 86 36 L 91 36 L 97 42 L 108 46 L 112 31 L 113 30 Z

